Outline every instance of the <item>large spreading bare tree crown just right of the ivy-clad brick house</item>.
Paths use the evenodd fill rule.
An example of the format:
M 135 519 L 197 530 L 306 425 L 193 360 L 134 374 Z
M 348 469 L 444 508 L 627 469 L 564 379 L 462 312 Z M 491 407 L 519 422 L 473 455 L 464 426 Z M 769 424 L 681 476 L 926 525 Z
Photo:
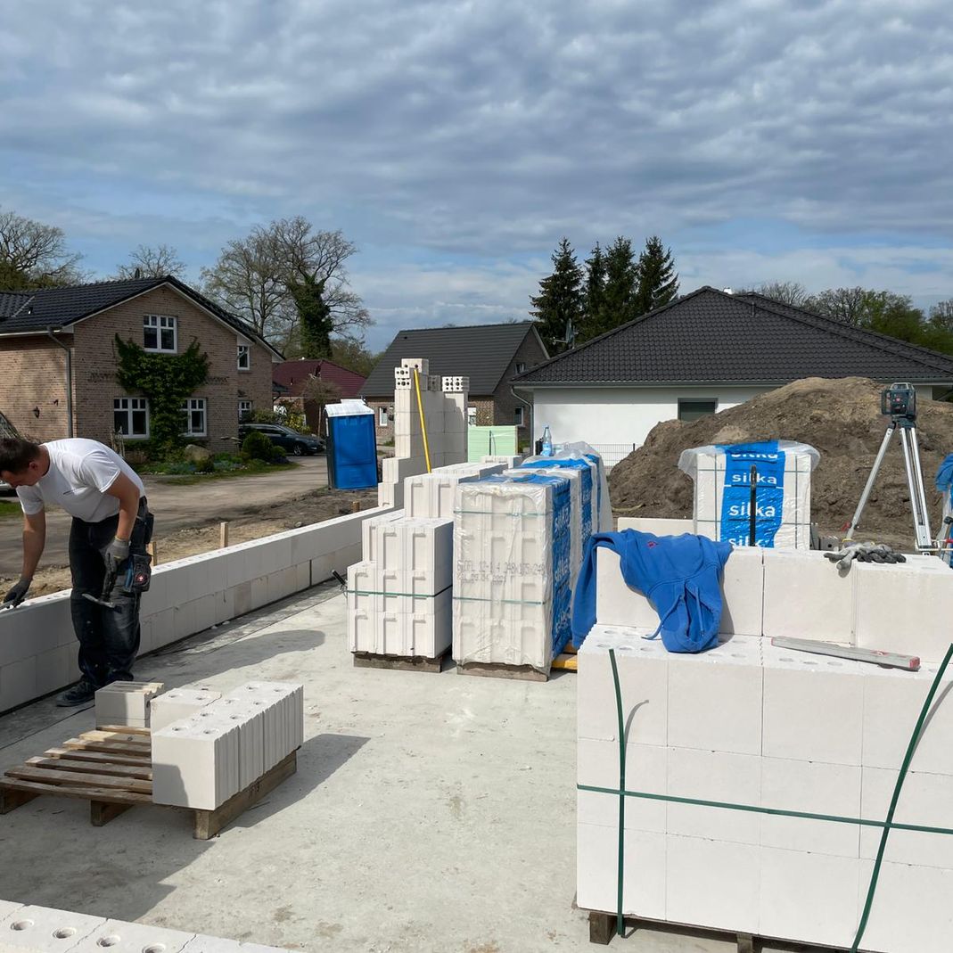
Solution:
M 359 336 L 371 317 L 351 290 L 345 269 L 356 251 L 339 231 L 314 231 L 300 215 L 282 218 L 230 241 L 214 268 L 203 269 L 204 291 L 258 334 L 280 341 L 291 339 L 298 324 L 292 289 L 306 281 L 323 281 L 333 333 Z

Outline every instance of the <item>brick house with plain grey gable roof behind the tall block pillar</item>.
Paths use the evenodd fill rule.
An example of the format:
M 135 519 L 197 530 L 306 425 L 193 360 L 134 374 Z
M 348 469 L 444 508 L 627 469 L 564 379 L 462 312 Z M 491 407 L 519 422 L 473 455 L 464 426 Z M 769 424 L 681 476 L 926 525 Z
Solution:
M 516 424 L 519 443 L 530 441 L 532 405 L 514 395 L 510 378 L 549 357 L 532 321 L 399 332 L 361 390 L 375 409 L 378 442 L 394 438 L 394 369 L 403 357 L 426 357 L 431 374 L 469 377 L 470 422 Z

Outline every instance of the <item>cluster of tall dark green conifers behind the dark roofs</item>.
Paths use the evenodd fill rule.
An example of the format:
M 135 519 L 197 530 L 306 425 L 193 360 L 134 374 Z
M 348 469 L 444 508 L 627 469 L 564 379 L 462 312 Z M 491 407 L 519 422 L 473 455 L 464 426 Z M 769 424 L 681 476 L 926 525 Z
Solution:
M 552 259 L 553 274 L 530 297 L 530 314 L 551 355 L 627 324 L 679 294 L 672 250 L 658 235 L 646 239 L 638 258 L 630 238 L 619 235 L 604 250 L 597 242 L 583 265 L 563 237 Z

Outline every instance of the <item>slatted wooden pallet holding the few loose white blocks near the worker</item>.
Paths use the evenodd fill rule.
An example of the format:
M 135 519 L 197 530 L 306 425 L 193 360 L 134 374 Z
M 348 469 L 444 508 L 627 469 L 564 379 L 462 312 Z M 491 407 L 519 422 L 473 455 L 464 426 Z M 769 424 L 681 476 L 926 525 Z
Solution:
M 193 815 L 193 837 L 208 841 L 297 770 L 297 752 L 214 810 L 157 805 Z M 94 827 L 136 804 L 152 804 L 152 741 L 148 728 L 104 727 L 8 769 L 0 779 L 0 814 L 41 795 L 90 802 Z

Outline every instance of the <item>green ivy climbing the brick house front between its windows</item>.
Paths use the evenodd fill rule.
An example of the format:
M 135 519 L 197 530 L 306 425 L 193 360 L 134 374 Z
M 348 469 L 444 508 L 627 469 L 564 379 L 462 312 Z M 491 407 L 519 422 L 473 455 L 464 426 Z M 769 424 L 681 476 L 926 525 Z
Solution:
M 182 405 L 208 380 L 209 355 L 199 351 L 195 339 L 180 355 L 150 354 L 119 335 L 115 346 L 119 385 L 130 394 L 138 392 L 149 399 L 152 444 L 180 445 L 186 429 Z

